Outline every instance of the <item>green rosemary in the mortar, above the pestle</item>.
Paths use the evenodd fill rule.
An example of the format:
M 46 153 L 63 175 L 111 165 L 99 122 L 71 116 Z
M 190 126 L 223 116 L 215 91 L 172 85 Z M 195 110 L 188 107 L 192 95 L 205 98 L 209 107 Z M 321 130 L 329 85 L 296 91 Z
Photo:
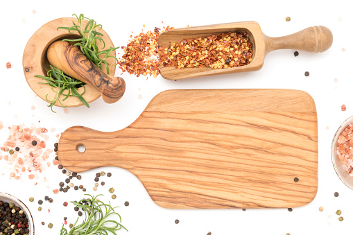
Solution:
M 64 29 L 69 31 L 69 33 L 74 33 L 77 32 L 81 37 L 73 40 L 69 39 L 64 39 L 62 41 L 67 41 L 67 42 L 76 42 L 74 45 L 77 46 L 86 56 L 89 60 L 94 62 L 99 69 L 102 69 L 102 63 L 105 64 L 105 68 L 107 69 L 107 73 L 109 74 L 109 63 L 106 61 L 107 58 L 114 58 L 118 62 L 118 59 L 110 55 L 112 51 L 115 51 L 119 49 L 118 47 L 112 47 L 110 46 L 110 49 L 105 49 L 104 51 L 99 51 L 97 43 L 98 41 L 103 43 L 103 48 L 105 48 L 105 42 L 101 36 L 103 36 L 102 33 L 99 33 L 98 31 L 101 30 L 102 25 L 101 24 L 96 24 L 96 21 L 93 19 L 89 19 L 87 17 L 84 17 L 83 14 L 80 14 L 78 17 L 76 14 L 78 24 L 75 24 L 73 21 L 72 23 L 74 24 L 71 27 L 58 27 L 58 29 Z M 88 23 L 86 24 L 85 28 L 82 26 L 82 20 L 87 19 Z M 97 31 L 98 29 L 98 31 Z M 103 56 L 103 58 L 99 58 L 99 56 Z M 117 64 L 114 64 L 116 66 Z

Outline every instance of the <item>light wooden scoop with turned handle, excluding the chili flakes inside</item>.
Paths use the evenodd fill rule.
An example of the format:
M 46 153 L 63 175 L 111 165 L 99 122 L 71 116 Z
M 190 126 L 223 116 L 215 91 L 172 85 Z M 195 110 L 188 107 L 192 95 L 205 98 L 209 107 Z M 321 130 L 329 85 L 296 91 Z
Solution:
M 248 33 L 252 42 L 253 52 L 250 64 L 229 69 L 160 67 L 160 74 L 166 79 L 196 78 L 216 74 L 236 73 L 242 71 L 256 71 L 264 65 L 265 56 L 270 51 L 279 49 L 293 49 L 307 52 L 327 51 L 332 45 L 332 32 L 325 26 L 313 26 L 284 37 L 268 37 L 262 33 L 255 21 L 229 24 L 215 24 L 188 28 L 176 28 L 162 33 L 158 39 L 158 46 L 170 46 L 171 42 L 181 42 L 184 39 L 205 37 L 221 33 L 241 31 Z

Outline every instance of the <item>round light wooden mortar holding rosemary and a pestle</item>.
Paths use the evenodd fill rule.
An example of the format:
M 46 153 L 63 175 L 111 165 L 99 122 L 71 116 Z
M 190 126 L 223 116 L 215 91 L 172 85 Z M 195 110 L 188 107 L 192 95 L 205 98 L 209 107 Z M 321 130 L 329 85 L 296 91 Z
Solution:
M 65 38 L 67 39 L 75 39 L 79 38 L 80 35 L 75 32 L 75 33 L 68 33 L 67 31 L 63 29 L 57 29 L 60 26 L 64 27 L 69 27 L 72 26 L 72 22 L 75 22 L 75 24 L 78 24 L 78 21 L 74 17 L 64 17 L 64 18 L 59 18 L 59 19 L 54 19 L 52 21 L 49 21 L 48 23 L 44 24 L 41 26 L 33 35 L 31 38 L 28 40 L 26 44 L 26 48 L 24 49 L 24 55 L 22 59 L 22 64 L 23 64 L 23 69 L 24 69 L 24 76 L 26 78 L 26 81 L 28 85 L 31 87 L 33 92 L 37 94 L 40 98 L 42 98 L 44 101 L 47 101 L 46 99 L 53 100 L 55 97 L 56 92 L 53 92 L 51 86 L 46 85 L 46 84 L 41 84 L 40 82 L 46 82 L 42 78 L 37 78 L 35 77 L 36 75 L 42 75 L 46 76 L 46 72 L 49 71 L 49 61 L 47 58 L 47 51 L 49 46 L 58 40 L 63 40 Z M 83 20 L 82 24 L 85 26 L 87 24 L 87 20 Z M 107 47 L 114 47 L 114 44 L 112 40 L 110 39 L 109 35 L 103 30 L 103 28 L 99 31 L 103 33 L 103 40 L 105 42 L 105 45 Z M 99 42 L 97 43 L 98 48 L 103 47 L 103 43 Z M 112 55 L 116 56 L 115 51 L 112 51 Z M 114 75 L 116 67 L 114 67 L 112 64 L 114 64 L 114 58 L 107 58 L 107 62 L 110 64 L 109 65 L 109 73 L 110 75 Z M 103 64 L 103 71 L 105 71 L 105 64 Z M 55 91 L 55 89 L 54 89 Z M 82 94 L 84 92 L 84 87 L 78 88 L 78 92 Z M 85 85 L 85 93 L 83 94 L 83 98 L 87 101 L 87 103 L 91 103 L 92 101 L 95 101 L 97 98 L 99 98 L 101 94 L 94 89 L 91 85 L 87 84 Z M 62 96 L 64 98 L 64 96 Z M 60 101 L 62 105 L 67 106 L 67 107 L 78 107 L 83 105 L 83 103 L 76 97 L 70 96 L 66 100 L 62 101 L 62 98 L 60 98 Z M 55 106 L 62 106 L 59 101 L 56 101 Z

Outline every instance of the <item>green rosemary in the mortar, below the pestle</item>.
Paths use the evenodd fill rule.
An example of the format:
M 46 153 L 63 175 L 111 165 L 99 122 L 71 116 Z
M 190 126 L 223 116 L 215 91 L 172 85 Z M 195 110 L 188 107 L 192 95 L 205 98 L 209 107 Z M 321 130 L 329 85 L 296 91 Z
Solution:
M 65 75 L 60 69 L 57 69 L 53 66 L 50 66 L 50 70 L 46 73 L 46 76 L 47 77 L 36 75 L 35 77 L 43 78 L 44 80 L 46 80 L 46 82 L 40 82 L 40 84 L 48 84 L 49 86 L 53 87 L 51 89 L 53 90 L 53 92 L 56 93 L 52 101 L 48 99 L 48 94 L 46 94 L 45 96 L 46 101 L 51 102 L 48 105 L 48 107 L 51 107 L 51 111 L 55 112 L 53 110 L 53 105 L 55 104 L 56 101 L 59 101 L 62 107 L 67 107 L 62 105 L 59 98 L 60 95 L 65 96 L 65 98 L 62 99 L 62 101 L 66 100 L 70 96 L 75 96 L 79 98 L 84 105 L 89 107 L 89 104 L 87 103 L 85 98 L 83 98 L 83 94 L 85 93 L 85 90 L 86 90 L 84 82 L 81 82 L 80 80 L 77 80 L 75 78 L 71 78 Z M 81 86 L 84 87 L 82 94 L 78 93 L 78 87 L 81 87 Z M 65 91 L 67 91 L 66 94 L 64 93 Z

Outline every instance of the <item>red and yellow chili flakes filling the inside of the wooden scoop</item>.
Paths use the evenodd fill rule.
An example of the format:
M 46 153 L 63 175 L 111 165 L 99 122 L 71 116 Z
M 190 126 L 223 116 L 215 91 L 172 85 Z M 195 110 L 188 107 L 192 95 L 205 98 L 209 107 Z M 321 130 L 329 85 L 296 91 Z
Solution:
M 164 67 L 226 69 L 252 61 L 252 42 L 247 33 L 237 31 L 171 43 L 158 53 Z

